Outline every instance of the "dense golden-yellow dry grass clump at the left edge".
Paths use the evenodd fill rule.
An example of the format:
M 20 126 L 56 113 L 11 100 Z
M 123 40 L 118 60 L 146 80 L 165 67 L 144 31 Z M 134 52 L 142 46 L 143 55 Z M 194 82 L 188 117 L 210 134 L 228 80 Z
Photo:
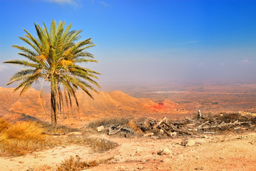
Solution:
M 2 153 L 24 155 L 48 144 L 43 128 L 36 122 L 10 124 L 3 118 L 0 122 L 0 149 Z

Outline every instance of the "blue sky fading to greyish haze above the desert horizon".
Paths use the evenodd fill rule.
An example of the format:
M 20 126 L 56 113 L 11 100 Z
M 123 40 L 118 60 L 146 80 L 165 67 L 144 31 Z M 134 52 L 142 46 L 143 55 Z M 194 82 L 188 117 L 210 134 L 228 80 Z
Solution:
M 256 81 L 254 0 L 0 0 L 0 61 L 34 23 L 93 38 L 100 82 Z M 0 63 L 0 86 L 17 68 Z

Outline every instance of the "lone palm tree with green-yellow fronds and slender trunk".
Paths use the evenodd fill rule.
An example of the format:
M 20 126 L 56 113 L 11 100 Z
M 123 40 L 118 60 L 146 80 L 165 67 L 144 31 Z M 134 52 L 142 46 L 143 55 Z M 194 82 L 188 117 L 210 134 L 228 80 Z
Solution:
M 96 45 L 93 44 L 91 38 L 78 41 L 81 37 L 81 30 L 70 31 L 72 24 L 69 24 L 66 29 L 64 29 L 64 25 L 65 22 L 59 21 L 57 26 L 56 21 L 52 21 L 51 28 L 48 30 L 44 23 L 43 28 L 39 24 L 34 24 L 37 37 L 32 36 L 29 31 L 24 29 L 25 37 L 19 38 L 29 44 L 31 48 L 25 46 L 13 47 L 18 48 L 21 51 L 18 54 L 25 57 L 26 60 L 17 59 L 4 62 L 24 66 L 24 69 L 15 73 L 7 83 L 9 85 L 16 81 L 20 82 L 19 86 L 14 89 L 21 89 L 20 95 L 33 83 L 42 81 L 42 86 L 44 82 L 50 83 L 51 125 L 53 127 L 57 125 L 57 110 L 63 109 L 64 97 L 67 106 L 72 106 L 71 97 L 73 97 L 78 107 L 76 97 L 78 88 L 81 88 L 91 98 L 93 97 L 89 90 L 96 91 L 93 85 L 100 88 L 98 83 L 93 80 L 93 78 L 98 79 L 96 75 L 100 73 L 79 66 L 81 63 L 98 62 L 93 59 L 91 53 L 86 51 Z M 42 86 L 41 95 L 43 93 Z

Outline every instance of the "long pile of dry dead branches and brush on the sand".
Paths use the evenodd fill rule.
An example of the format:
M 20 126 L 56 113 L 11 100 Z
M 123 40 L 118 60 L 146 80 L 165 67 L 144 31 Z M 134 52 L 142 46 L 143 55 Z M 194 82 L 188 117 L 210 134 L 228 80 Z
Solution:
M 144 136 L 152 135 L 200 135 L 215 134 L 223 131 L 255 130 L 256 117 L 252 115 L 241 115 L 240 113 L 220 113 L 219 115 L 203 115 L 198 110 L 196 118 L 186 118 L 178 121 L 153 120 L 144 118 L 143 121 L 136 123 Z M 108 128 L 108 135 L 116 133 L 135 134 L 135 129 L 128 125 L 116 125 Z

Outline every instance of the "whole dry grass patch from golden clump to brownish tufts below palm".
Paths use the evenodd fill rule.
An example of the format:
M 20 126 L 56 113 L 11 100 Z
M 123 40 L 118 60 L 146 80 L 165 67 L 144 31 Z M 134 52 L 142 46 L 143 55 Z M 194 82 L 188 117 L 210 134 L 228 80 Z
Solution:
M 0 118 L 0 152 L 1 155 L 25 155 L 28 152 L 43 150 L 49 147 L 68 146 L 71 144 L 89 145 L 96 152 L 104 152 L 116 147 L 117 144 L 98 138 L 83 136 L 52 136 L 47 133 L 68 133 L 73 128 L 59 126 L 51 128 L 39 122 L 20 121 L 9 123 Z

